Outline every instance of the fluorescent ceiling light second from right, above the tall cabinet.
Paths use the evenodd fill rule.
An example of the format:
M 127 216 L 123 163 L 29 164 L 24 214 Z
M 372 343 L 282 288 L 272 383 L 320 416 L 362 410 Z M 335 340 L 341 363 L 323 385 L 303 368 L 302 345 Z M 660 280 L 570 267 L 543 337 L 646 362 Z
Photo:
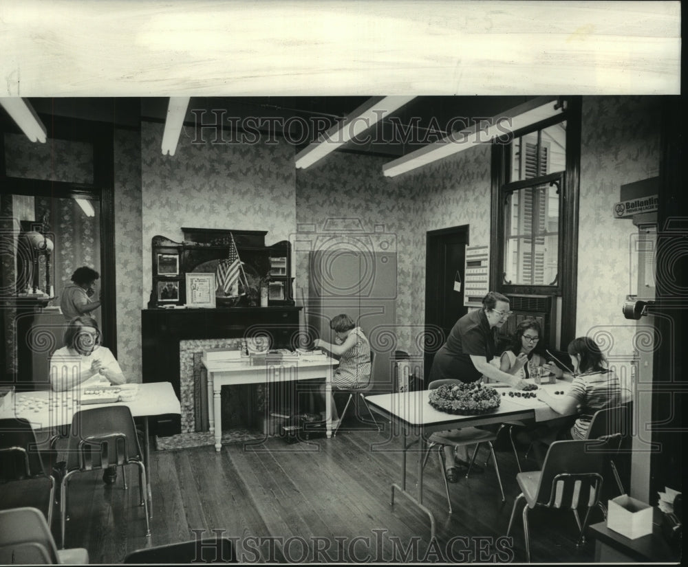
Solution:
M 303 148 L 296 156 L 297 168 L 305 169 L 312 166 L 319 159 L 343 146 L 352 138 L 365 132 L 385 114 L 400 109 L 412 100 L 413 96 L 374 96 L 361 104 L 356 110 L 340 123 L 335 124 L 324 134 L 319 135 L 318 141 Z

